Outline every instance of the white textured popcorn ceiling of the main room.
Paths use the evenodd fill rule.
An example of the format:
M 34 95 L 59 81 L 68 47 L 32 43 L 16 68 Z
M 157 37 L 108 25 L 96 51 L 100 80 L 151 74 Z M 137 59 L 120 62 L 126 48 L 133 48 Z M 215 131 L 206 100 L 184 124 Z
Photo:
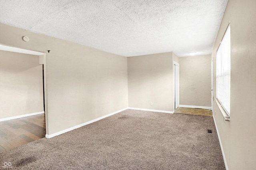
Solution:
M 0 0 L 0 22 L 130 57 L 211 54 L 227 0 Z

